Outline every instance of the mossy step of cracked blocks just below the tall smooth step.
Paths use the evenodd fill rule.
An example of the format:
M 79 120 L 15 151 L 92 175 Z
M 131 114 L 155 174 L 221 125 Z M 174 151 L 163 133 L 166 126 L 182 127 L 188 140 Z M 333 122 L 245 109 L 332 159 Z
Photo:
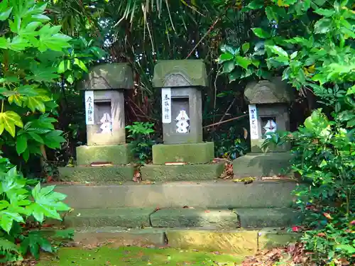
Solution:
M 273 209 L 76 209 L 64 217 L 62 222 L 48 221 L 67 227 L 125 228 L 261 228 L 293 226 L 300 219 L 300 212 L 288 208 Z

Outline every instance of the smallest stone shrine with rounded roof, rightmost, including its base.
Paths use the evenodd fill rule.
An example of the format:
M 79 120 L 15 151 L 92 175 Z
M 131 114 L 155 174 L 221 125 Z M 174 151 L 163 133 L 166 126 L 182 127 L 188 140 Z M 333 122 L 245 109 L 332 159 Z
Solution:
M 268 145 L 271 133 L 290 130 L 288 107 L 293 100 L 292 88 L 281 77 L 271 81 L 251 82 L 244 96 L 249 101 L 251 153 L 236 158 L 233 171 L 236 177 L 267 177 L 282 174 L 288 167 L 290 144 Z

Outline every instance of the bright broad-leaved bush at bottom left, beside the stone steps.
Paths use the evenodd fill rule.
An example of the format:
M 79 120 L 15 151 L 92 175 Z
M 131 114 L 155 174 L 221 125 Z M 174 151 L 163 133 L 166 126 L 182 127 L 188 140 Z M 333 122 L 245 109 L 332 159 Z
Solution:
M 23 226 L 29 217 L 43 223 L 45 218 L 61 220 L 58 211 L 70 208 L 62 203 L 64 194 L 54 192 L 54 186 L 41 187 L 37 182 L 26 179 L 16 171 L 16 167 L 8 172 L 0 172 L 0 251 L 4 260 L 18 260 L 30 252 L 36 257 L 39 250 L 53 252 L 50 242 L 36 231 L 26 233 Z M 25 231 L 24 231 L 25 230 Z M 10 245 L 10 241 L 19 240 L 21 247 Z M 10 242 L 11 243 L 11 242 Z M 11 253 L 6 250 L 13 248 Z M 18 257 L 15 257 L 18 255 Z M 20 256 L 21 255 L 21 256 Z

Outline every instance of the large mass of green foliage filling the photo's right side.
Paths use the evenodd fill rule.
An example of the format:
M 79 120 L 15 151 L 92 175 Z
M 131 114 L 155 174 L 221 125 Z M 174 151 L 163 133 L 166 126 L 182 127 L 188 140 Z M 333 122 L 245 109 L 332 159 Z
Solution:
M 229 81 L 282 75 L 310 90 L 327 115 L 315 110 L 304 126 L 276 133 L 269 143 L 293 143 L 292 170 L 306 184 L 295 191 L 305 213 L 305 248 L 324 265 L 354 265 L 355 13 L 351 1 L 247 1 L 258 12 L 251 45 L 222 47 L 219 64 Z M 253 49 L 251 49 L 253 47 Z M 256 63 L 256 64 L 253 64 Z M 329 113 L 330 110 L 330 113 Z

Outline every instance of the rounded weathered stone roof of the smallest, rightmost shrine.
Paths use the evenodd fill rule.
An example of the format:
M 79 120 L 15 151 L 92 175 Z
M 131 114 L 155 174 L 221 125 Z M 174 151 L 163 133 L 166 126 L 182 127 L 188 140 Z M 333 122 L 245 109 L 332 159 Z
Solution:
M 246 86 L 244 96 L 249 104 L 280 104 L 293 100 L 293 88 L 281 77 L 273 77 L 271 81 L 251 82 Z

